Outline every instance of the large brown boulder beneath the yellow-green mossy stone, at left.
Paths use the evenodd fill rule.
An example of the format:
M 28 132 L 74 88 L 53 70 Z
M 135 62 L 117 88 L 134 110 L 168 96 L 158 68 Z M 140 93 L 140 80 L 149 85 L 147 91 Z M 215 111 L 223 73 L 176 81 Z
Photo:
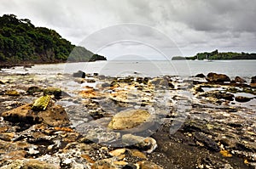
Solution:
M 49 105 L 46 110 L 35 112 L 32 110 L 32 104 L 24 104 L 14 110 L 3 112 L 2 115 L 5 121 L 32 125 L 44 122 L 54 127 L 69 125 L 67 113 L 60 105 Z

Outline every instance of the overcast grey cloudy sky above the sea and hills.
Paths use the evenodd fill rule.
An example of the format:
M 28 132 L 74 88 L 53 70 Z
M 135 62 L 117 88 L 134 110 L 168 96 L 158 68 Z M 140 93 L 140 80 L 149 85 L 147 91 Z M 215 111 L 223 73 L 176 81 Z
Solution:
M 3 14 L 108 59 L 256 53 L 256 0 L 0 0 Z

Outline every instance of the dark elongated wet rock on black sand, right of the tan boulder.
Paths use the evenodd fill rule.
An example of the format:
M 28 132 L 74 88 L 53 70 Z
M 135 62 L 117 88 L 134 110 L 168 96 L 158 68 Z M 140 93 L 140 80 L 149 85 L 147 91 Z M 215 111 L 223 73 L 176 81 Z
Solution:
M 202 132 L 195 132 L 194 137 L 197 141 L 201 142 L 204 144 L 207 149 L 219 152 L 220 148 L 218 147 L 218 144 L 216 144 L 211 138 L 207 137 L 205 134 Z

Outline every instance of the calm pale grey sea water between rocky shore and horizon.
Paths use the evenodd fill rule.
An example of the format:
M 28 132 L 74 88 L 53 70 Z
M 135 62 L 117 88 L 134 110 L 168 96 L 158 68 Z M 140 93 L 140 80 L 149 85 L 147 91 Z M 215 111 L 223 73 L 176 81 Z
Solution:
M 224 73 L 228 76 L 251 77 L 256 74 L 256 60 L 171 60 L 131 61 L 111 60 L 49 65 L 34 65 L 32 68 L 15 67 L 2 70 L 9 73 L 71 74 L 83 70 L 85 73 L 99 73 L 105 76 L 195 76 L 198 73 Z

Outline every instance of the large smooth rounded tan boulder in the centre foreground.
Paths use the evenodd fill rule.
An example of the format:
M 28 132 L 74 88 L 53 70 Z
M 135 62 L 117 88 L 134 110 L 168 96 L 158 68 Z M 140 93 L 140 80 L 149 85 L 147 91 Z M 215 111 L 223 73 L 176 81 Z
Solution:
M 131 129 L 147 121 L 150 114 L 147 110 L 124 110 L 113 115 L 108 128 L 113 130 Z

